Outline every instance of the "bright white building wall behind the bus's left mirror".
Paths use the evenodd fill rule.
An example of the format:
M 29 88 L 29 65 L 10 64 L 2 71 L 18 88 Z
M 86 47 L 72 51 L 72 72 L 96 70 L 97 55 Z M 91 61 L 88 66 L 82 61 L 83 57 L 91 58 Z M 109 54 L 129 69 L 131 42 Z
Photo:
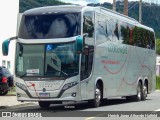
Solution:
M 10 61 L 10 72 L 12 74 L 14 73 L 15 41 L 10 42 L 9 55 L 7 57 L 2 55 L 1 44 L 4 40 L 16 36 L 18 11 L 19 0 L 0 0 L 0 66 L 2 66 L 2 60 L 5 60 L 6 67 Z

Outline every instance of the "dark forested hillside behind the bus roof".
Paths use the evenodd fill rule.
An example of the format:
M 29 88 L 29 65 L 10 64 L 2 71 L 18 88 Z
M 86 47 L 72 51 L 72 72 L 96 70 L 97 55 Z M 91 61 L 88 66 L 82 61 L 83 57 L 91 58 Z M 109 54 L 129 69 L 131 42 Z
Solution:
M 58 0 L 20 0 L 20 12 L 25 10 L 51 5 L 64 5 Z M 89 6 L 100 6 L 100 4 L 88 4 Z M 123 2 L 117 2 L 117 12 L 123 13 Z M 112 9 L 112 4 L 104 3 L 101 6 Z M 138 20 L 139 5 L 138 2 L 129 2 L 129 16 Z M 142 24 L 152 27 L 155 30 L 156 37 L 160 38 L 160 6 L 156 4 L 143 3 L 142 5 Z

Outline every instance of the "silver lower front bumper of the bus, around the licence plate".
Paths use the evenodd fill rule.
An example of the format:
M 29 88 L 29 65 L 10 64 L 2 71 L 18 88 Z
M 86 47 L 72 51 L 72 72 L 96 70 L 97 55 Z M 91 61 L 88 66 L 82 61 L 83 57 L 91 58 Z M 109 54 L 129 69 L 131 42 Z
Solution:
M 81 97 L 78 93 L 78 85 L 68 90 L 55 91 L 23 91 L 18 90 L 18 101 L 80 101 Z

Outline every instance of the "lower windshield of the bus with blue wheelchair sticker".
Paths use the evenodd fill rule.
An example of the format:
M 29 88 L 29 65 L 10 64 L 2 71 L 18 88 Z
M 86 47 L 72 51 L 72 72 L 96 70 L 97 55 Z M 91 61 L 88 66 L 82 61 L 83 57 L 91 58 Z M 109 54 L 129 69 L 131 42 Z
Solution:
M 71 77 L 78 75 L 75 43 L 28 45 L 17 43 L 16 75 Z

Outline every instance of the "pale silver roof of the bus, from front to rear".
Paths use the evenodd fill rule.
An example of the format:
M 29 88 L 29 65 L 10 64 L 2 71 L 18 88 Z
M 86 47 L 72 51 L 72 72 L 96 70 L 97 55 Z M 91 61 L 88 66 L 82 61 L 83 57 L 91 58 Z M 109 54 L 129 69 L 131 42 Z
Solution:
M 109 10 L 104 7 L 92 7 L 92 6 L 81 6 L 81 5 L 58 5 L 58 6 L 45 6 L 45 7 L 39 7 L 39 8 L 34 8 L 27 10 L 24 12 L 25 15 L 37 15 L 37 14 L 52 14 L 52 13 L 70 13 L 70 12 L 81 12 L 83 10 L 88 10 L 88 11 L 105 11 L 106 13 L 110 13 L 115 17 L 119 17 L 120 19 L 126 20 L 129 23 L 134 23 L 139 27 L 148 29 L 150 31 L 154 31 L 152 28 L 147 27 L 145 25 L 140 24 L 137 20 L 134 18 L 125 16 L 123 14 L 120 14 L 118 12 Z

